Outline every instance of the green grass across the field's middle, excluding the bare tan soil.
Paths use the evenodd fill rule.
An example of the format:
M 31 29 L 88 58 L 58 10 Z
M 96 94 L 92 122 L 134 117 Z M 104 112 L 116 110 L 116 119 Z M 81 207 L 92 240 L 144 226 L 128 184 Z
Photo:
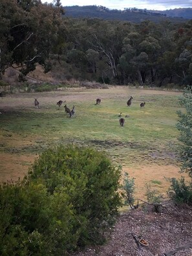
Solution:
M 80 95 L 89 96 L 91 93 L 98 95 L 96 90 L 80 92 Z M 88 100 L 67 103 L 70 107 L 76 105 L 75 118 L 68 118 L 63 105 L 58 109 L 56 103 L 47 103 L 48 107 L 40 109 L 16 107 L 1 114 L 0 129 L 5 140 L 6 136 L 14 138 L 14 134 L 19 135 L 21 140 L 27 136 L 39 138 L 33 140 L 34 145 L 5 145 L 1 151 L 38 154 L 48 146 L 76 143 L 105 150 L 114 162 L 122 165 L 151 161 L 164 164 L 176 162 L 178 96 L 147 94 L 147 91 L 143 91 L 134 96 L 133 105 L 128 108 L 128 96 L 122 98 L 115 91 L 107 90 L 102 93 L 109 96 L 101 101 L 101 105 L 95 106 L 89 97 Z M 146 101 L 144 109 L 140 109 L 142 101 Z M 125 118 L 124 127 L 119 125 L 120 112 L 123 117 L 130 115 Z

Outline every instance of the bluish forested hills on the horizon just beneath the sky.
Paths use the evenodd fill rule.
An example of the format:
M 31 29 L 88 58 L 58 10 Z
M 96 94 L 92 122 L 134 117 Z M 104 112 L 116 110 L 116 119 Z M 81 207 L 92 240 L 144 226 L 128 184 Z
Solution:
M 99 18 L 109 20 L 131 21 L 140 23 L 145 20 L 153 22 L 165 21 L 185 22 L 192 19 L 192 8 L 178 8 L 173 10 L 157 11 L 138 8 L 125 8 L 124 10 L 110 10 L 104 6 L 64 6 L 65 16 L 74 18 Z

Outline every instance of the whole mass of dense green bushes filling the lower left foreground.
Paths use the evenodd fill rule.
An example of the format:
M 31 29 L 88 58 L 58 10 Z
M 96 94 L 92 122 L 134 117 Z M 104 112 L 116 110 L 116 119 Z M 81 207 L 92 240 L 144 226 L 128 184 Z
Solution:
M 119 178 L 104 153 L 47 149 L 23 182 L 0 187 L 0 254 L 65 255 L 103 242 L 121 205 Z

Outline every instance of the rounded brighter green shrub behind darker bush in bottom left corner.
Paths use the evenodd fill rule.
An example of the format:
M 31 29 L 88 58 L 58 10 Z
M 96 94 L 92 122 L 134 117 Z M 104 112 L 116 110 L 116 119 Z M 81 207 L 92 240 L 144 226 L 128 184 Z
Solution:
M 120 169 L 103 154 L 74 146 L 48 149 L 32 168 L 29 180 L 40 180 L 50 194 L 65 188 L 77 215 L 78 244 L 98 242 L 103 224 L 118 213 Z M 81 224 L 80 224 L 81 223 Z

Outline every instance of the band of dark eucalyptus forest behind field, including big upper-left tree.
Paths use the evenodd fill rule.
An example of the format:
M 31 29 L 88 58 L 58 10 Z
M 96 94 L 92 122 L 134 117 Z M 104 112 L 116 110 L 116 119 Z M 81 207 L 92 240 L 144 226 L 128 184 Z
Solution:
M 7 3 L 9 4 L 7 5 Z M 62 80 L 179 87 L 192 83 L 192 21 L 153 23 L 74 19 L 60 1 L 3 0 L 0 73 L 60 70 Z

